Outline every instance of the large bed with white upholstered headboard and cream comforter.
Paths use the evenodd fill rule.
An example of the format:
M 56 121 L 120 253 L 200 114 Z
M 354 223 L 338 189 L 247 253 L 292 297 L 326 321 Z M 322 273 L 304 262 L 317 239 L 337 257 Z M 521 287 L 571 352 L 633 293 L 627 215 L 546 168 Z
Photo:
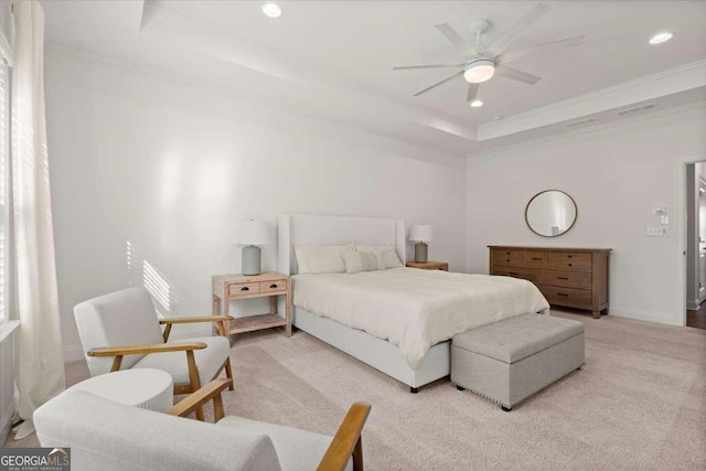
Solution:
M 454 333 L 548 310 L 536 287 L 505 277 L 404 267 L 298 275 L 296 245 L 392 245 L 404 264 L 400 220 L 287 214 L 279 216 L 278 237 L 279 271 L 292 276 L 295 327 L 408 385 L 413 393 L 450 374 Z M 478 315 L 467 314 L 469 302 L 480 308 Z M 483 310 L 489 303 L 495 309 Z M 413 331 L 419 325 L 424 328 L 417 335 Z

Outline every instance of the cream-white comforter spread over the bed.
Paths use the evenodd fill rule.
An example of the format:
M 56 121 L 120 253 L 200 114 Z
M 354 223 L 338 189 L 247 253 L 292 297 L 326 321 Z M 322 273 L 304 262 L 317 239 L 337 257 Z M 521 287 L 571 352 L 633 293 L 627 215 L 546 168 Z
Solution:
M 549 308 L 530 281 L 416 268 L 297 275 L 293 304 L 398 345 L 413 370 L 459 332 Z

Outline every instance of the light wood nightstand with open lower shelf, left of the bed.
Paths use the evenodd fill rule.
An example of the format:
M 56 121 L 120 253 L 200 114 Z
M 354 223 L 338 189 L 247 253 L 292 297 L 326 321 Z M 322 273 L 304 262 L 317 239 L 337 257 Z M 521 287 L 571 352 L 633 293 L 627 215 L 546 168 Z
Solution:
M 277 297 L 286 299 L 286 315 L 277 314 Z M 227 330 L 231 334 L 285 327 L 291 336 L 291 280 L 287 275 L 267 271 L 260 275 L 216 275 L 213 277 L 213 315 L 229 315 L 231 301 L 269 297 L 267 314 L 235 318 Z

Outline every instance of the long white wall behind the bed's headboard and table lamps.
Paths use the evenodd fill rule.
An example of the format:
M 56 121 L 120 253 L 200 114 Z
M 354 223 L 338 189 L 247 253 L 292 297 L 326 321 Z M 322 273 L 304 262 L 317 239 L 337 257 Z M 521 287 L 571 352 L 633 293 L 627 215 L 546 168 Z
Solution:
M 430 257 L 466 269 L 461 157 L 51 47 L 46 97 L 67 357 L 81 344 L 73 306 L 128 285 L 128 242 L 133 258 L 168 279 L 178 310 L 192 314 L 211 312 L 212 275 L 239 271 L 233 229 L 250 217 L 429 223 Z M 265 269 L 276 268 L 276 253 L 264 248 Z

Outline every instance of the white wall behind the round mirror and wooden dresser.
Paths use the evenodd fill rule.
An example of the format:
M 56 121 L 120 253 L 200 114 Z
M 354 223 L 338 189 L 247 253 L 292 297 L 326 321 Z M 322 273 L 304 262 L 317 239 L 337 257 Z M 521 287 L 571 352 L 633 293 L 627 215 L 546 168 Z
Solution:
M 468 160 L 468 267 L 488 272 L 486 245 L 612 248 L 610 312 L 672 324 L 683 322 L 687 160 L 706 159 L 706 111 L 685 109 L 612 125 Z M 557 238 L 525 225 L 530 199 L 547 189 L 570 194 L 574 228 Z M 682 195 L 681 193 L 684 192 Z M 654 205 L 668 206 L 670 235 L 646 237 L 659 225 Z M 685 268 L 684 268 L 685 271 Z M 683 302 L 683 301 L 682 301 Z

